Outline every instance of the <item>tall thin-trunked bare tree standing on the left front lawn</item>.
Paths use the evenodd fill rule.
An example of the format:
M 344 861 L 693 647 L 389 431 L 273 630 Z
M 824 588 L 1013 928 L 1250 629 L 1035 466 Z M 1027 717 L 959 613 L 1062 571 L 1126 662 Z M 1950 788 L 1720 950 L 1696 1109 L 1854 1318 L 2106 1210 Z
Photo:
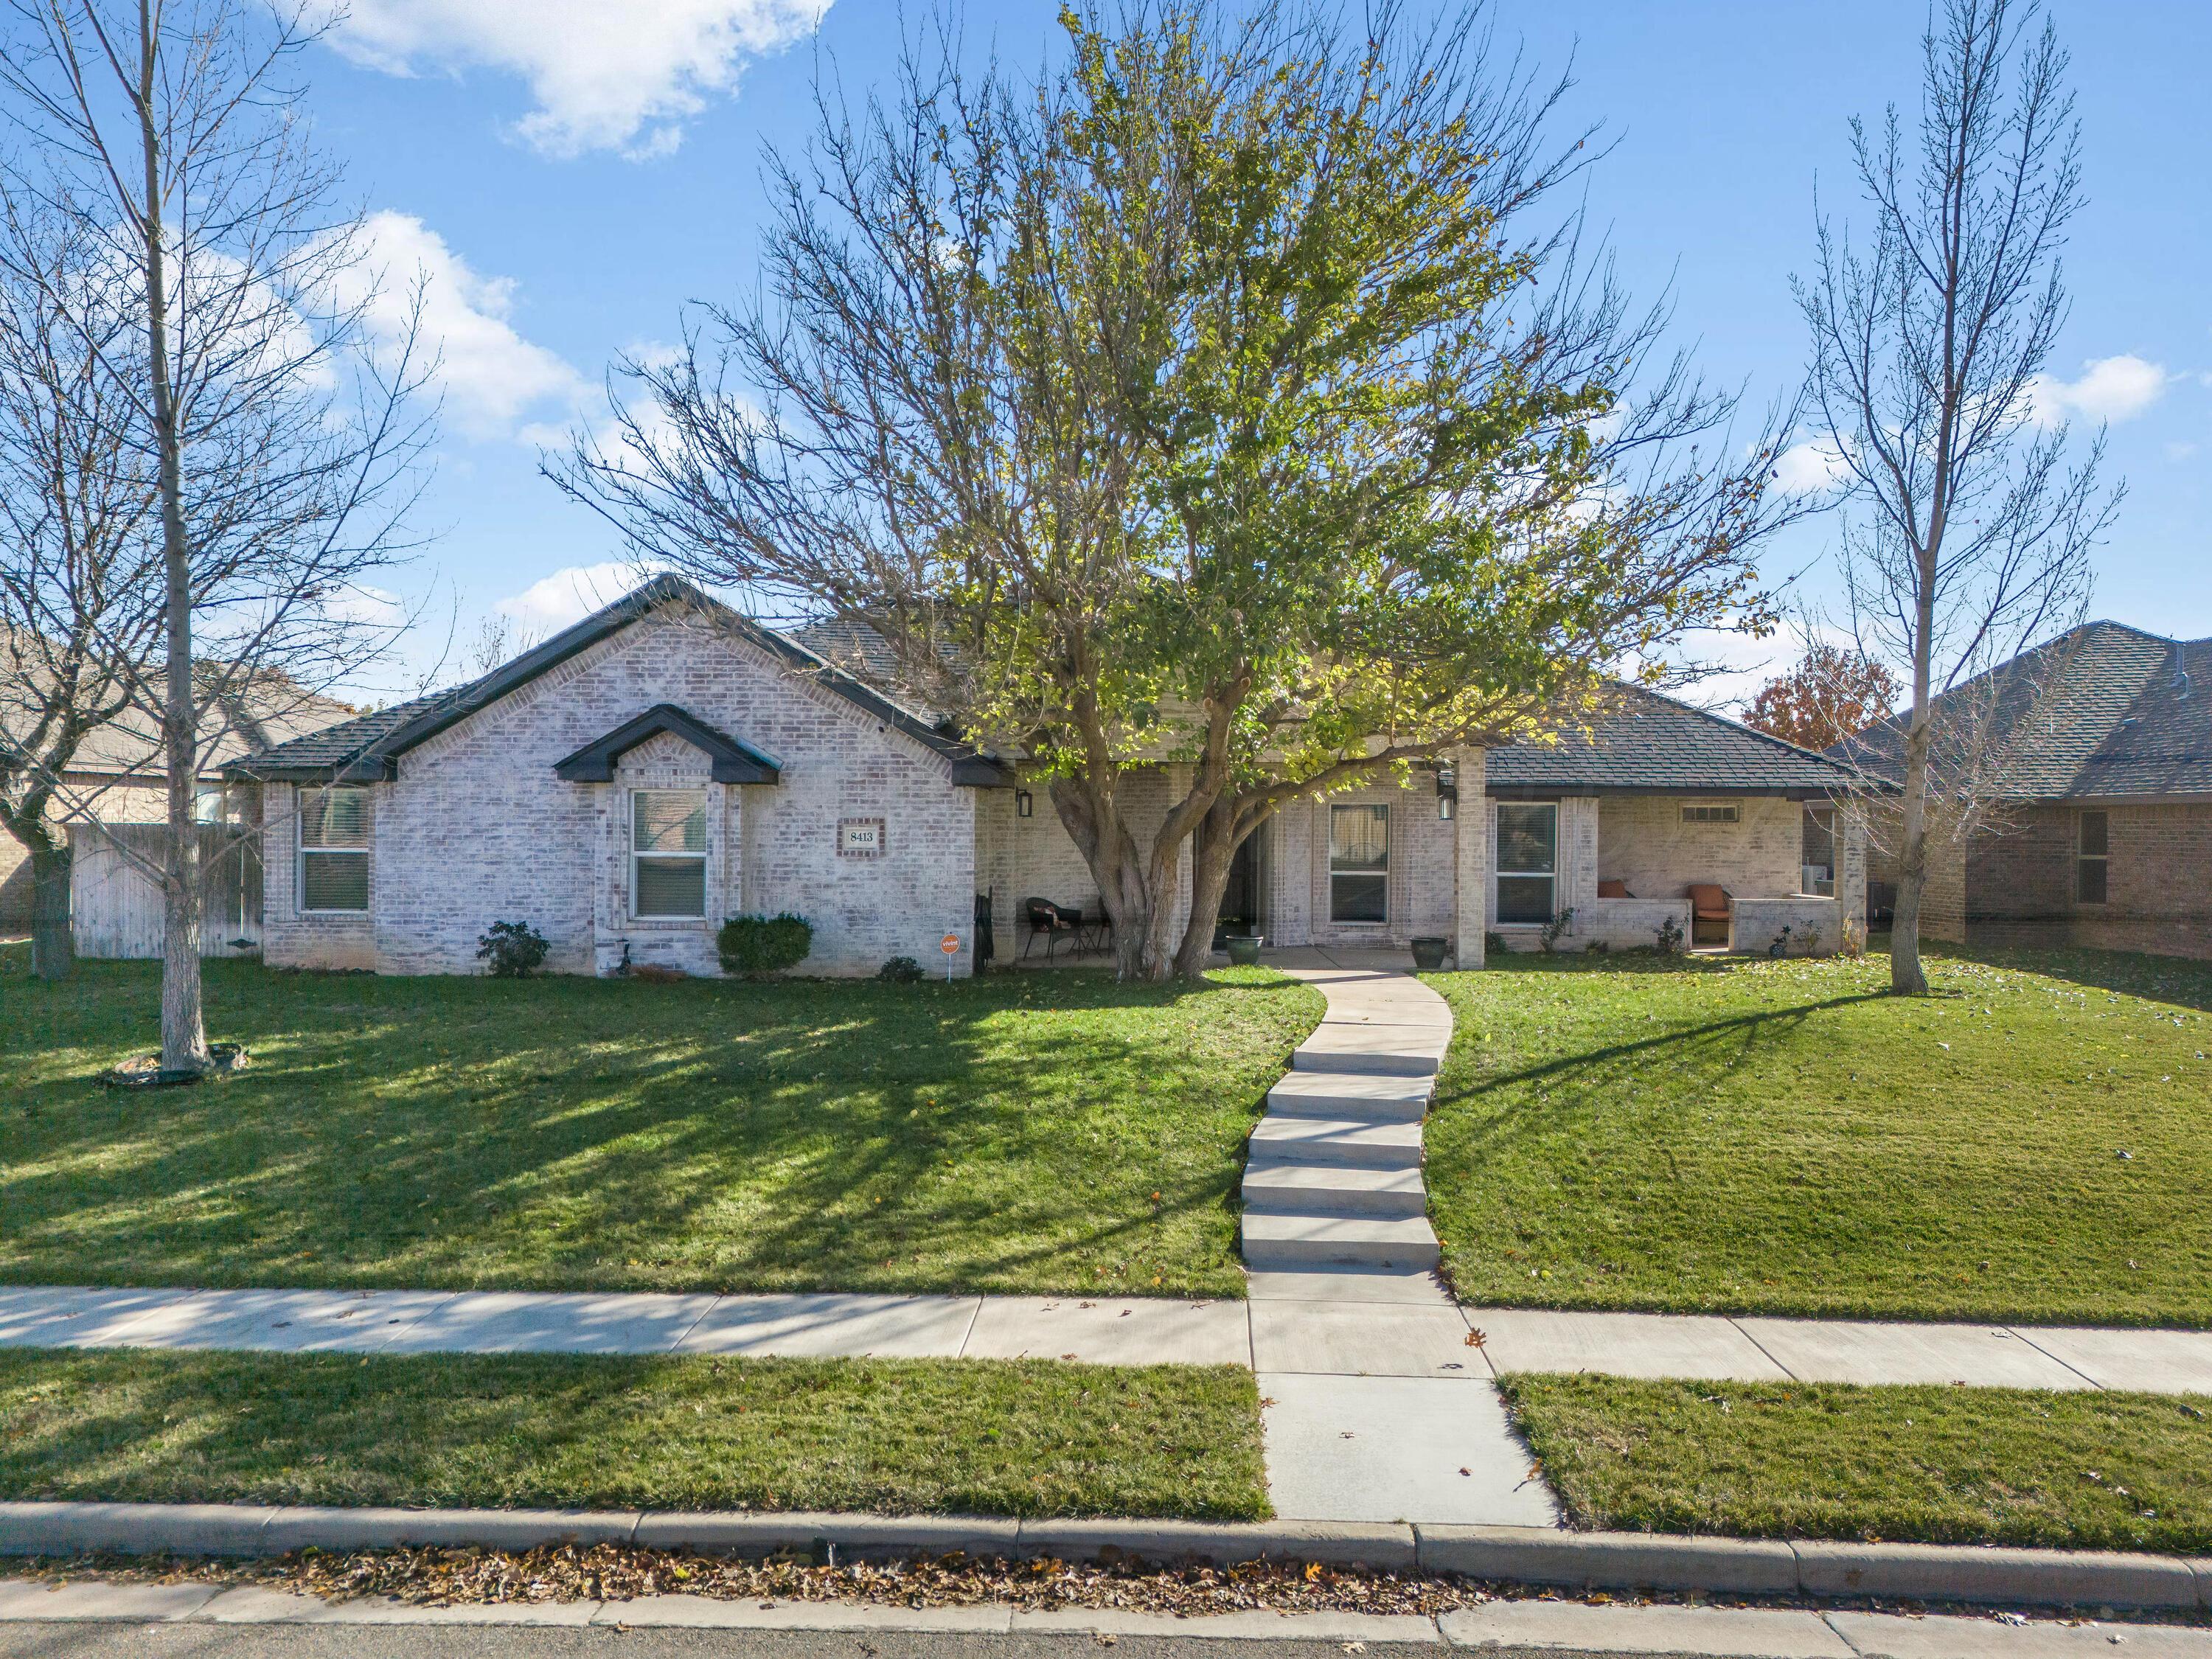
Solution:
M 396 323 L 374 312 L 363 217 L 285 80 L 316 35 L 305 7 L 9 4 L 0 95 L 29 153 L 0 190 L 100 243 L 106 283 L 55 310 L 155 478 L 164 653 L 124 668 L 168 787 L 161 1064 L 199 1071 L 195 785 L 226 710 L 338 684 L 389 646 L 369 580 L 405 551 L 427 438 L 420 285 Z M 117 316 L 128 352 L 102 345 Z

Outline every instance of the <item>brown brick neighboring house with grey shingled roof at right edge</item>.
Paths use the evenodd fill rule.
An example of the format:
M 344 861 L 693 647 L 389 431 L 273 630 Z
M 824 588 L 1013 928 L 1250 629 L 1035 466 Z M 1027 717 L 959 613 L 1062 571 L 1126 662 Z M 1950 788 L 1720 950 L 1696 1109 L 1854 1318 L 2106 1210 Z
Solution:
M 1991 805 L 1931 852 L 1922 931 L 2212 958 L 2212 639 L 2090 622 L 1938 697 L 1938 728 L 1953 699 L 1993 710 Z M 1898 776 L 1907 719 L 1836 754 Z

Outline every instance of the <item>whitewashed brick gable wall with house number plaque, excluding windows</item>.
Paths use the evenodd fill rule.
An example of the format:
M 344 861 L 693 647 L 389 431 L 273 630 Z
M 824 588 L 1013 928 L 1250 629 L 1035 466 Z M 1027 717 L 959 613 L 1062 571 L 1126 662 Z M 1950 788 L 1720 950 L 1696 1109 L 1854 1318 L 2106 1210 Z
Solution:
M 613 783 L 564 783 L 562 757 L 655 703 L 776 757 L 776 785 L 712 785 L 679 739 L 633 750 Z M 628 792 L 708 787 L 708 918 L 628 914 Z M 268 958 L 294 967 L 473 973 L 493 920 L 526 920 L 549 967 L 633 960 L 714 971 L 712 929 L 734 909 L 814 925 L 805 973 L 874 973 L 889 956 L 938 967 L 958 933 L 973 969 L 975 790 L 945 761 L 757 646 L 653 617 L 400 757 L 374 785 L 369 918 L 299 916 L 292 858 L 272 856 Z M 272 790 L 272 849 L 290 847 L 290 792 Z M 274 827 L 283 814 L 281 830 Z M 838 856 L 838 818 L 885 821 L 876 858 Z

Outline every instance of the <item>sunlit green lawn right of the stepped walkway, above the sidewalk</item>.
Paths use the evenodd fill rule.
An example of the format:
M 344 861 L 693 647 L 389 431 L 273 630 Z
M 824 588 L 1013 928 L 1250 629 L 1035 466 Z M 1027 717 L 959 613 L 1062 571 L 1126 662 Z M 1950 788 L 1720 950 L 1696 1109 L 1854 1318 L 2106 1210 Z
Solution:
M 1509 958 L 1429 1208 L 1469 1303 L 2212 1325 L 2212 967 Z M 2119 1157 L 2119 1152 L 2128 1157 Z

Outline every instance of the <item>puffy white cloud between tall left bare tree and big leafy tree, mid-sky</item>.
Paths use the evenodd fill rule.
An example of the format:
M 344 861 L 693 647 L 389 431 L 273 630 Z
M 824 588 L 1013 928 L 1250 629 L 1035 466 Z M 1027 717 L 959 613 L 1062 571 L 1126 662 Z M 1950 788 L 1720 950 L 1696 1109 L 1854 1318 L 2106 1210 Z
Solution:
M 580 409 L 591 383 L 557 352 L 515 332 L 513 276 L 482 276 L 436 230 L 405 212 L 367 219 L 369 254 L 356 270 L 369 327 L 398 345 L 416 283 L 422 288 L 422 347 L 438 354 L 445 414 L 467 438 L 509 438 L 531 411 Z M 356 294 L 358 299 L 358 294 Z

